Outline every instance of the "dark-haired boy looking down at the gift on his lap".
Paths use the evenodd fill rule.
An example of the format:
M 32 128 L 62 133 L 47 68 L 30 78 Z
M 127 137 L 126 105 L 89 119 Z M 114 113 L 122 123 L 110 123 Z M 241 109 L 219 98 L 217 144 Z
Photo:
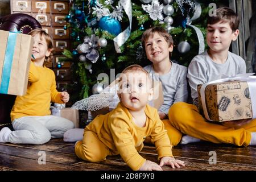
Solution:
M 217 80 L 222 74 L 234 76 L 246 72 L 245 61 L 229 52 L 232 41 L 237 39 L 239 20 L 233 10 L 222 7 L 207 22 L 209 50 L 193 58 L 188 67 L 188 80 L 194 105 L 179 102 L 170 109 L 172 125 L 187 134 L 181 144 L 200 139 L 213 143 L 231 143 L 237 146 L 256 145 L 256 119 L 209 123 L 199 113 L 197 85 Z M 191 137 L 190 137 L 191 136 Z

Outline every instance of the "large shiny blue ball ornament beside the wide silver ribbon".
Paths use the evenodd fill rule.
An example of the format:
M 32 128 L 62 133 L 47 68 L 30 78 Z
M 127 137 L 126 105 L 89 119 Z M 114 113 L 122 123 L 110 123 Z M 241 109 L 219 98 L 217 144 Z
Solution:
M 100 19 L 99 27 L 113 35 L 118 35 L 122 31 L 120 22 L 114 18 L 110 18 L 110 16 L 103 16 Z

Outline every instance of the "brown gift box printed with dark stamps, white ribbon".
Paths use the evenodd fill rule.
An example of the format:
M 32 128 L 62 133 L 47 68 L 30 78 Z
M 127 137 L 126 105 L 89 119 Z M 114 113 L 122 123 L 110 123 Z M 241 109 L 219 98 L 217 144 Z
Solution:
M 201 86 L 197 86 L 197 93 L 200 111 L 204 113 L 200 93 Z M 224 122 L 253 117 L 250 92 L 246 81 L 226 81 L 207 85 L 205 104 L 212 121 Z

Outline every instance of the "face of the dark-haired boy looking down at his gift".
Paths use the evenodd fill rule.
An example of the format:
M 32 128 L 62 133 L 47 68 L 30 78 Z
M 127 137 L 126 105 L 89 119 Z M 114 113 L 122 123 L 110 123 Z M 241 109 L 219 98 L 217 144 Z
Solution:
M 239 30 L 232 31 L 229 22 L 217 22 L 207 25 L 207 44 L 211 51 L 228 51 L 232 41 L 237 39 Z

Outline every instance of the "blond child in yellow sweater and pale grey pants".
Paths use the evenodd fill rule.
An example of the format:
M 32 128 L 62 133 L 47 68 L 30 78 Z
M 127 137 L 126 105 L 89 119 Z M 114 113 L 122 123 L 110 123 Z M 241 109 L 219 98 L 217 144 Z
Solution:
M 69 100 L 67 92 L 57 92 L 54 72 L 43 65 L 51 55 L 51 37 L 42 29 L 33 30 L 30 35 L 34 38 L 35 60 L 30 64 L 27 93 L 16 97 L 11 110 L 15 131 L 4 127 L 0 143 L 43 144 L 51 137 L 63 137 L 65 131 L 74 127 L 71 121 L 51 115 L 49 110 L 51 101 L 63 104 Z

